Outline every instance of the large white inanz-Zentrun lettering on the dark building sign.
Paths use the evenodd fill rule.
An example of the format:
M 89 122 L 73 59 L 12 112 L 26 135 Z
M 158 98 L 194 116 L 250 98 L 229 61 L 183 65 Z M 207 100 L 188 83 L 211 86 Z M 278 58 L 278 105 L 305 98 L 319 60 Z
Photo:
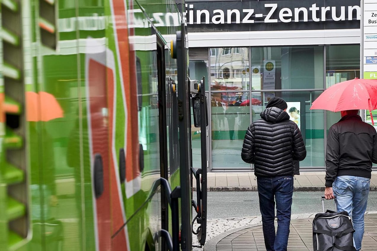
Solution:
M 195 9 L 194 4 L 189 4 L 188 6 L 186 4 L 186 7 L 188 7 L 186 13 L 189 15 L 188 24 L 253 24 L 255 18 L 261 17 L 264 17 L 264 23 L 360 20 L 360 6 L 357 5 L 318 7 L 317 3 L 313 3 L 309 8 L 278 9 L 277 3 L 265 3 L 264 8 L 266 11 L 264 13 L 255 13 L 254 9 L 242 9 L 242 12 L 238 9 L 215 9 L 210 13 L 206 9 Z M 377 15 L 377 13 L 375 14 Z

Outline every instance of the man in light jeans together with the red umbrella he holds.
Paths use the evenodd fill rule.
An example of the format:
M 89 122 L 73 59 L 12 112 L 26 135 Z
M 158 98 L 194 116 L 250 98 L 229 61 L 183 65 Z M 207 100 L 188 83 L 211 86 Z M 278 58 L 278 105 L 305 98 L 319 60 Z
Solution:
M 326 89 L 310 110 L 340 111 L 326 146 L 325 198 L 337 196 L 337 211 L 346 211 L 355 229 L 354 245 L 361 248 L 364 213 L 368 202 L 372 163 L 377 163 L 377 133 L 357 115 L 360 109 L 377 109 L 377 80 L 351 79 Z

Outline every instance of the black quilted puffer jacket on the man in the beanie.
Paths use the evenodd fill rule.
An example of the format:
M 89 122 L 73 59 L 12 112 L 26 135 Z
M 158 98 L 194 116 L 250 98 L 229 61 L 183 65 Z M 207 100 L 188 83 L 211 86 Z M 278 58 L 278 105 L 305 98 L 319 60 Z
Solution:
M 242 160 L 254 164 L 256 176 L 293 175 L 293 162 L 306 157 L 300 129 L 277 107 L 262 111 L 261 117 L 247 129 Z

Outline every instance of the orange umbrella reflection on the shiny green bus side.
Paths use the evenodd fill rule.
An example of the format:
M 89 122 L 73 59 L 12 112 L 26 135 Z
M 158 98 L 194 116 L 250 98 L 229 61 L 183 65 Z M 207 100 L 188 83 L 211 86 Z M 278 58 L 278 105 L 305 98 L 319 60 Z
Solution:
M 38 113 L 39 109 L 40 113 Z M 44 91 L 38 93 L 26 91 L 27 121 L 49 121 L 61 117 L 63 117 L 63 109 L 54 95 Z

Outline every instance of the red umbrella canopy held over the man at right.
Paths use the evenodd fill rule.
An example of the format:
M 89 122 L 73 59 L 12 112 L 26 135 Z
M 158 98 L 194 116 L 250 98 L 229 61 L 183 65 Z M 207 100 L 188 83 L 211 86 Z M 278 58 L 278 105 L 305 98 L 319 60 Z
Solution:
M 313 101 L 310 110 L 328 111 L 377 109 L 377 79 L 352 79 L 326 89 Z

